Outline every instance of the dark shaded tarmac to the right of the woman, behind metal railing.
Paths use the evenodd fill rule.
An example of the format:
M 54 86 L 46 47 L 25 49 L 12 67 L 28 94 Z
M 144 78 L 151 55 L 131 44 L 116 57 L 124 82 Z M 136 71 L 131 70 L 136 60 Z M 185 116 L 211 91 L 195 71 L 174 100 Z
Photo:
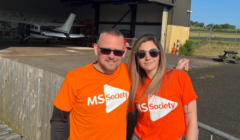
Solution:
M 240 64 L 191 69 L 187 73 L 198 95 L 198 121 L 240 138 Z M 200 139 L 207 137 L 210 139 L 209 134 L 200 131 Z

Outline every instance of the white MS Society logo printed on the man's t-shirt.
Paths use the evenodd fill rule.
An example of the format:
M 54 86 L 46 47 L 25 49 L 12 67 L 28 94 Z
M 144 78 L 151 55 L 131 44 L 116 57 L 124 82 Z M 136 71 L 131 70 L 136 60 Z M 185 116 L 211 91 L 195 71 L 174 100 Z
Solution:
M 88 97 L 87 105 L 98 105 L 106 103 L 106 112 L 109 113 L 124 103 L 129 97 L 129 92 L 115 88 L 109 85 L 104 85 L 104 95 L 94 96 L 93 99 Z

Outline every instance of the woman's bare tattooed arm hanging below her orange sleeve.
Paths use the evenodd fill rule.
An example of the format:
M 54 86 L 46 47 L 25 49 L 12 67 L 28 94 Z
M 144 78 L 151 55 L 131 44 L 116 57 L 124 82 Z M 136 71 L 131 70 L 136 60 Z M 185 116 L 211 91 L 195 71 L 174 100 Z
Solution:
M 197 124 L 197 102 L 193 100 L 184 106 L 186 134 L 185 140 L 197 140 L 198 124 Z

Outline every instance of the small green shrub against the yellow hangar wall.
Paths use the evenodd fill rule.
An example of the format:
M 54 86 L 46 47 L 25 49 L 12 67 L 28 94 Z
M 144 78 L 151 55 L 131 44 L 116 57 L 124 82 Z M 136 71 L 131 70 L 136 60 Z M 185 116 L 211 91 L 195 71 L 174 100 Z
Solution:
M 179 55 L 192 56 L 194 53 L 193 41 L 186 40 L 183 45 L 180 45 Z

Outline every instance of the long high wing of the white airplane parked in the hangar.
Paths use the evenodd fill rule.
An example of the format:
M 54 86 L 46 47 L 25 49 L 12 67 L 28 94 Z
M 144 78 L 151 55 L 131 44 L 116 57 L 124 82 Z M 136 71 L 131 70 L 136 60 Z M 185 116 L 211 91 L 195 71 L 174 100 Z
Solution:
M 0 21 L 7 21 L 7 22 L 16 22 L 16 23 L 25 23 L 25 24 L 37 24 L 40 26 L 62 26 L 64 23 L 47 23 L 47 22 L 35 22 L 35 21 L 25 21 L 25 20 L 17 20 L 17 19 L 8 19 L 8 18 L 1 18 Z M 73 24 L 72 26 L 85 26 L 79 24 Z

